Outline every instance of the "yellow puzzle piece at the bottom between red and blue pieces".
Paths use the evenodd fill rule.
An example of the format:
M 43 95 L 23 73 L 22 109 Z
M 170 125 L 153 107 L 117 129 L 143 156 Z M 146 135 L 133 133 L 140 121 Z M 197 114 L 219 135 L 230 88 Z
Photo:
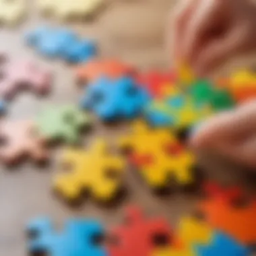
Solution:
M 183 217 L 177 228 L 177 236 L 181 247 L 157 249 L 152 256 L 196 256 L 193 245 L 210 245 L 213 230 L 206 222 L 193 217 Z

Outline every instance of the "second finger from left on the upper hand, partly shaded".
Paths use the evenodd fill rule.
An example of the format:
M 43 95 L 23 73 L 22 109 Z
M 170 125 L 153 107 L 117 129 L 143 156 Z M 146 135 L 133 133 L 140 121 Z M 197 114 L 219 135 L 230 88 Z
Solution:
M 223 13 L 224 8 L 222 7 L 223 1 L 208 0 L 204 1 L 203 4 L 199 5 L 197 11 L 195 11 L 193 18 L 189 21 L 187 28 L 183 31 L 185 37 L 183 41 L 183 58 L 191 63 L 193 57 L 197 55 L 199 46 L 203 45 L 203 40 L 205 40 L 204 34 L 207 30 L 216 24 L 220 24 L 220 18 Z M 216 20 L 218 17 L 218 20 Z

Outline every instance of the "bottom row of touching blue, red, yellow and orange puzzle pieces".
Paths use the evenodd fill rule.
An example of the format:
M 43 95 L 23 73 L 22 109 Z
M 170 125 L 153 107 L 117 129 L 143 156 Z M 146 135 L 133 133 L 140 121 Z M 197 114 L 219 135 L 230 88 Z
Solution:
M 161 217 L 149 218 L 127 207 L 125 223 L 104 228 L 94 219 L 71 219 L 56 232 L 49 218 L 27 226 L 28 251 L 53 256 L 247 256 L 256 241 L 256 200 L 235 204 L 241 191 L 207 185 L 208 198 L 197 214 L 181 217 L 176 228 Z

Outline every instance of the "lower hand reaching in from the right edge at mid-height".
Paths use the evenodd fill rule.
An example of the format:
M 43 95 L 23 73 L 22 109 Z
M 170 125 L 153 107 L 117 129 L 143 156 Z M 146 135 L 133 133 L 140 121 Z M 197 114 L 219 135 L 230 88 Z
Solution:
M 203 123 L 191 137 L 191 146 L 256 167 L 256 101 Z

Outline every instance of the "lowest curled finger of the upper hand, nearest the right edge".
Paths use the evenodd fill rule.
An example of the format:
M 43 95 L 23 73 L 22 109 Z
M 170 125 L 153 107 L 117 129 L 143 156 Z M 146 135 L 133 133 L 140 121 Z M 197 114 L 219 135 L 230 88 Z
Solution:
M 192 64 L 197 75 L 204 77 L 210 75 L 212 71 L 220 65 L 226 63 L 228 59 L 238 55 L 245 50 L 246 30 L 236 28 L 232 30 L 226 38 L 220 38 L 210 42 L 205 49 L 199 53 L 197 59 Z

